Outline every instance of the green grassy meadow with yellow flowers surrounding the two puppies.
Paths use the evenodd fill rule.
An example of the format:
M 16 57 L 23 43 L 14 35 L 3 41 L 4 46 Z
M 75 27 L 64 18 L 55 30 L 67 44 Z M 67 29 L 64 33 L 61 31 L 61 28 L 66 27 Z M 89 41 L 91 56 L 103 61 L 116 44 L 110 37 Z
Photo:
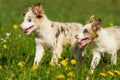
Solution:
M 59 59 L 61 66 L 49 63 L 52 51 L 40 66 L 33 66 L 35 55 L 34 34 L 26 36 L 19 29 L 23 10 L 41 2 L 47 17 L 52 21 L 78 22 L 83 25 L 91 15 L 102 19 L 102 26 L 120 25 L 120 0 L 0 0 L 0 80 L 119 80 L 120 55 L 117 65 L 110 63 L 110 55 L 102 58 L 93 75 L 88 73 L 92 59 L 87 48 L 87 59 L 78 66 L 69 46 L 65 46 Z

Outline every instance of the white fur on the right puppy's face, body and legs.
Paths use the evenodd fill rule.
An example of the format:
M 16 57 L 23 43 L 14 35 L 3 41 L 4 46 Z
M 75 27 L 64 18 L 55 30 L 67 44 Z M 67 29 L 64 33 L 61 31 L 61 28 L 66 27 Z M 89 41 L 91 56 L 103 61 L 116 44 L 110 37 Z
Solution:
M 82 31 L 77 36 L 78 41 L 85 38 L 83 30 L 84 29 L 89 30 L 90 28 L 92 28 L 91 24 L 87 24 L 84 26 Z M 94 72 L 94 69 L 100 62 L 101 55 L 104 53 L 110 54 L 111 62 L 116 65 L 117 50 L 119 49 L 119 46 L 120 46 L 117 43 L 119 43 L 120 40 L 116 40 L 116 35 L 118 35 L 118 31 L 117 31 L 117 33 L 114 34 L 115 30 L 117 31 L 117 29 L 114 29 L 114 28 L 105 28 L 105 29 L 101 28 L 99 31 L 97 31 L 98 37 L 96 37 L 93 40 L 90 40 L 91 45 L 92 45 L 92 54 L 93 54 L 91 67 L 90 67 L 90 72 L 92 74 Z M 119 32 L 120 32 L 120 30 L 119 30 Z M 111 34 L 111 33 L 113 33 L 113 34 Z M 91 35 L 91 34 L 88 34 L 88 37 L 89 37 L 89 35 Z

